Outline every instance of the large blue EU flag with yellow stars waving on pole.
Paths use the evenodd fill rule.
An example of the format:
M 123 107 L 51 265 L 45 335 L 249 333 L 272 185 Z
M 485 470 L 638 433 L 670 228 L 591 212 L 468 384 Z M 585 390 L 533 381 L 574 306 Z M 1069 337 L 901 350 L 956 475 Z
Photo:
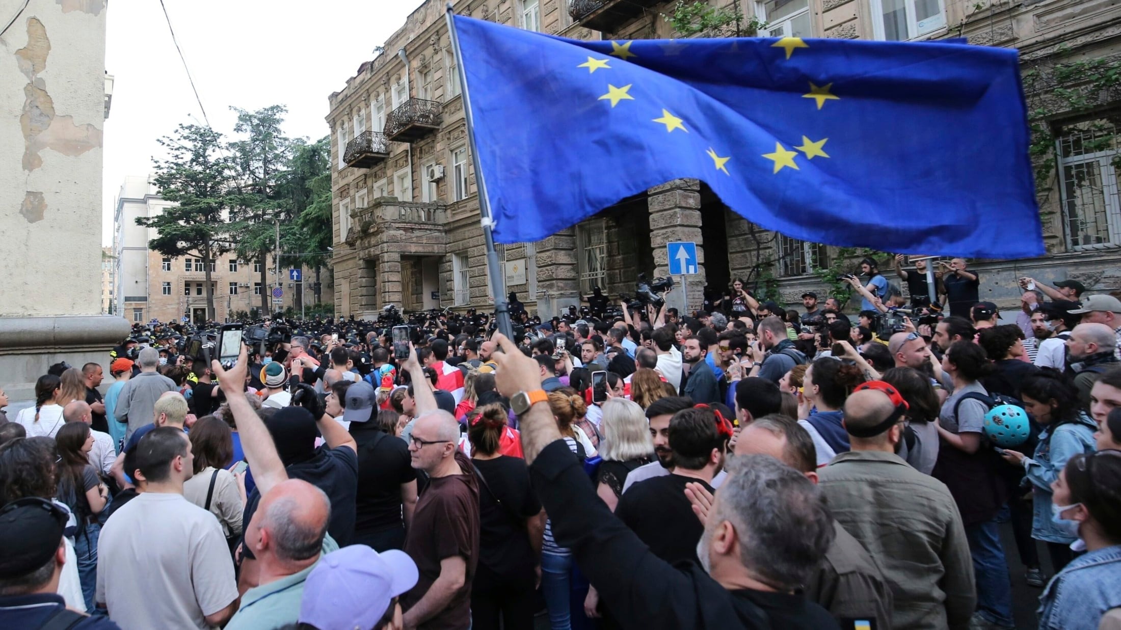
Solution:
M 807 241 L 1044 253 L 1016 50 L 580 41 L 454 19 L 499 242 L 696 178 L 744 219 Z

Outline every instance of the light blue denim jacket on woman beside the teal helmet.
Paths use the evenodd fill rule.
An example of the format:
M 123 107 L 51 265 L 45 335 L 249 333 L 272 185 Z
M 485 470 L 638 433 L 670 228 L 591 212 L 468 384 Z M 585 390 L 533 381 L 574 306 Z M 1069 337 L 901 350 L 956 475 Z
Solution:
M 1031 482 L 1031 537 L 1047 543 L 1069 545 L 1068 537 L 1051 520 L 1050 484 L 1058 479 L 1066 462 L 1080 453 L 1093 453 L 1093 420 L 1080 414 L 1078 420 L 1065 423 L 1039 436 L 1034 457 L 1023 458 L 1023 474 Z

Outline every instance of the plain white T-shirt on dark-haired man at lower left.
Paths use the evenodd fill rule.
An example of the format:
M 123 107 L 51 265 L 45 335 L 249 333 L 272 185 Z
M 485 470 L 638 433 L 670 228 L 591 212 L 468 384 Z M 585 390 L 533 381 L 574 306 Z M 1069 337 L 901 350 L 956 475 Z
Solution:
M 96 601 L 123 630 L 209 630 L 237 599 L 222 527 L 182 494 L 142 492 L 101 529 Z

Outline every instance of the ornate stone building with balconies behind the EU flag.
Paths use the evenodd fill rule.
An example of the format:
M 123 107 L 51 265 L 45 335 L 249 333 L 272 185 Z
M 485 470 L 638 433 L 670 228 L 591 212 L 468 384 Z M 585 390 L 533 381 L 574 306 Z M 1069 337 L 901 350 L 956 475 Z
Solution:
M 715 4 L 715 2 L 714 2 Z M 1057 64 L 1118 53 L 1121 7 L 1110 0 L 956 2 L 953 0 L 720 0 L 742 21 L 767 24 L 758 35 L 865 39 L 966 38 L 1015 46 L 1025 76 L 1054 78 Z M 578 39 L 671 38 L 665 13 L 676 2 L 651 0 L 461 0 L 461 15 Z M 1032 74 L 1032 71 L 1035 74 Z M 367 316 L 406 309 L 490 308 L 474 173 L 460 95 L 458 68 L 444 4 L 427 0 L 373 61 L 361 64 L 330 96 L 336 313 Z M 1069 74 L 1069 73 L 1067 73 Z M 1029 109 L 1049 108 L 1041 128 L 1055 138 L 1055 167 L 1040 177 L 1049 254 L 1021 261 L 974 261 L 983 298 L 1013 306 L 1015 279 L 1075 277 L 1095 290 L 1121 286 L 1121 197 L 1117 189 L 1109 90 L 1093 108 L 1055 102 L 1055 81 L 1027 81 Z M 1074 85 L 1077 87 L 1077 85 Z M 1078 106 L 1064 106 L 1077 104 Z M 1072 110 L 1077 113 L 1072 113 Z M 531 115 L 529 113 L 528 115 Z M 511 121 L 516 124 L 516 121 Z M 919 132 L 920 130 L 917 130 Z M 1050 148 L 1044 146 L 1044 149 Z M 874 226 L 870 226 L 874 229 Z M 1017 238 L 1010 234 L 1009 238 Z M 668 271 L 666 243 L 695 241 L 700 274 L 688 295 L 697 308 L 707 284 L 778 278 L 786 302 L 821 290 L 813 275 L 834 248 L 762 231 L 729 211 L 703 182 L 675 180 L 622 200 L 596 216 L 537 243 L 500 250 L 507 289 L 543 316 L 578 304 L 593 286 L 630 293 L 638 272 Z M 890 250 L 890 243 L 881 248 Z M 884 268 L 889 265 L 884 263 Z

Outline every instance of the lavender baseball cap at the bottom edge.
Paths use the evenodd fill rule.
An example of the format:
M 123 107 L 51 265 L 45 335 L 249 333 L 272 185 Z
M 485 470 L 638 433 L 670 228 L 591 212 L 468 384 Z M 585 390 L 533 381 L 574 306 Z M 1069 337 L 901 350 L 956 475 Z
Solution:
M 393 597 L 417 583 L 417 565 L 405 552 L 351 545 L 322 558 L 304 582 L 299 622 L 318 630 L 373 628 Z

